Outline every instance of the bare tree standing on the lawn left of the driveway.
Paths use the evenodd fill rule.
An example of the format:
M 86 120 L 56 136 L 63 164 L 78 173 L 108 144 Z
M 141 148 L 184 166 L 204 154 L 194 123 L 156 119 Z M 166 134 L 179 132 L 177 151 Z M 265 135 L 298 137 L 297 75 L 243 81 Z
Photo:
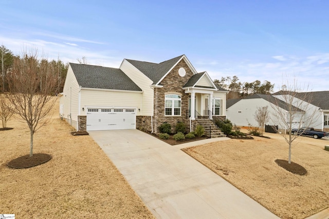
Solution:
M 58 85 L 57 72 L 38 51 L 23 51 L 16 57 L 12 71 L 7 75 L 10 95 L 8 99 L 17 117 L 26 122 L 30 130 L 30 156 L 33 155 L 33 134 L 50 119 L 56 98 L 50 96 Z

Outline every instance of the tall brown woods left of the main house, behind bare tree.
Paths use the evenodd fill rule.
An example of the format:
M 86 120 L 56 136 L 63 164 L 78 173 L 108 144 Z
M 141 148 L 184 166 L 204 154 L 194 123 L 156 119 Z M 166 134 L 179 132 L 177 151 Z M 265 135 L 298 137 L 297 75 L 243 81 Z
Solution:
M 24 53 L 24 52 L 23 52 Z M 26 55 L 26 54 L 25 54 Z M 31 57 L 30 57 L 31 58 Z M 0 72 L 1 72 L 1 83 L 0 83 L 0 92 L 9 93 L 9 83 L 10 75 L 14 71 L 14 63 L 24 63 L 28 59 L 24 55 L 14 54 L 11 50 L 6 48 L 4 45 L 0 47 Z M 56 76 L 57 86 L 54 90 L 51 90 L 49 95 L 59 94 L 62 92 L 66 77 L 66 72 L 68 69 L 68 63 L 64 63 L 60 59 L 57 60 L 48 60 L 46 57 L 42 57 L 39 60 L 34 60 L 35 66 L 39 69 L 43 69 L 42 66 L 47 66 L 48 74 Z M 42 78 L 42 72 L 39 72 L 39 76 Z M 40 83 L 39 89 L 41 88 L 42 83 Z

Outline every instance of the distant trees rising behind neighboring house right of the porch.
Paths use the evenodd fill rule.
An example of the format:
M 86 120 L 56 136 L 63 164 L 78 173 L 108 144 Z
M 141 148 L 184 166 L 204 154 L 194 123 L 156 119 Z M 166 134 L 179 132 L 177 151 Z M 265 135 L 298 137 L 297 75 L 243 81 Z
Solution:
M 242 83 L 237 76 L 222 77 L 221 80 L 215 79 L 214 83 L 229 90 L 227 99 L 246 98 L 253 94 L 271 94 L 275 85 L 269 81 L 262 83 L 260 80 Z

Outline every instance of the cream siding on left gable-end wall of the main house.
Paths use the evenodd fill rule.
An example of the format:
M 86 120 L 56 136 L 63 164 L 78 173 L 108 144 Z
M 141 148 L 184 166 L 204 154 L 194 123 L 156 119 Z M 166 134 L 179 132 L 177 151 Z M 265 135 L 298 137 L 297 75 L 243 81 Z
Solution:
M 60 98 L 60 105 L 63 105 L 63 114 L 60 116 L 65 118 L 69 124 L 75 127 L 75 129 L 78 129 L 79 90 L 80 87 L 73 73 L 73 70 L 71 66 L 68 66 L 62 93 L 63 96 Z

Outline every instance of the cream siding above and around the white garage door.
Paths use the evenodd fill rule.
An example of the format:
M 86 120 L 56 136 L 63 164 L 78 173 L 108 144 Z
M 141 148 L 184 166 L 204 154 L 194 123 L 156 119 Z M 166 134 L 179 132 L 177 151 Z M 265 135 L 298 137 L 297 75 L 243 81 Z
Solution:
M 86 107 L 132 107 L 141 109 L 141 93 L 113 92 L 106 90 L 81 90 L 80 114 L 86 115 Z M 84 111 L 83 109 L 84 108 Z

